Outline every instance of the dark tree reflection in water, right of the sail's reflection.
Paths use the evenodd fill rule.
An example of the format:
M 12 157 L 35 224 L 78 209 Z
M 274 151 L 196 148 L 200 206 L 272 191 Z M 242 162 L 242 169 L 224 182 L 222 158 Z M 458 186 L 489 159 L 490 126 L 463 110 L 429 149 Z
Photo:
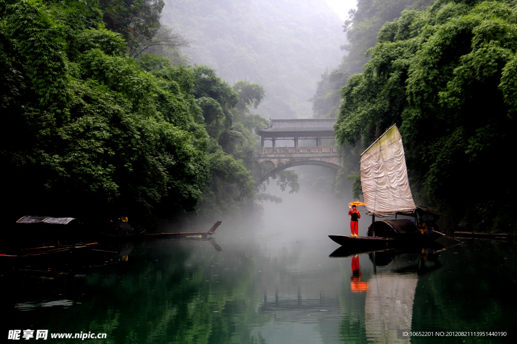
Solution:
M 414 329 L 513 329 L 513 305 L 517 304 L 517 267 L 512 263 L 517 258 L 515 252 L 515 244 L 488 240 L 467 240 L 466 244 L 443 252 L 443 268 L 419 280 Z M 469 340 L 484 342 L 486 338 Z M 412 338 L 412 342 L 420 341 Z

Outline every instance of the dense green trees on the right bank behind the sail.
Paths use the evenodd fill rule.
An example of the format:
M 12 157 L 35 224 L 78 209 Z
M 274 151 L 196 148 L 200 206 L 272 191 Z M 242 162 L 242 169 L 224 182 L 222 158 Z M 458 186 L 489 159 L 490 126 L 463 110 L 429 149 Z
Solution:
M 517 228 L 505 162 L 517 109 L 516 14 L 514 1 L 405 10 L 341 89 L 339 142 L 365 147 L 377 128 L 397 124 L 417 203 L 437 206 L 451 227 Z

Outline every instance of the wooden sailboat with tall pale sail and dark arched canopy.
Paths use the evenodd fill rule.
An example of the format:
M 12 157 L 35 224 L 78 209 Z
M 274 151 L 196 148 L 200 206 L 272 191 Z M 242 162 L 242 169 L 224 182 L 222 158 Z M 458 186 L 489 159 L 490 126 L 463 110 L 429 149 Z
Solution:
M 424 243 L 442 236 L 435 231 L 435 221 L 442 215 L 436 209 L 415 205 L 409 189 L 402 136 L 396 125 L 361 154 L 361 187 L 367 215 L 372 216 L 368 236 L 329 235 L 330 239 L 355 249 L 373 249 Z M 376 217 L 392 216 L 395 218 L 375 221 Z

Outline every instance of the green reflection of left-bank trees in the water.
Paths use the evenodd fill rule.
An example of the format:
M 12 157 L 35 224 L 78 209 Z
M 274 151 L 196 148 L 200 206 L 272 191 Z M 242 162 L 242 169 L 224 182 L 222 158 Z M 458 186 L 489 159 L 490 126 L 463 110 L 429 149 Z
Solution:
M 256 312 L 260 293 L 250 298 L 258 270 L 254 259 L 189 245 L 198 242 L 143 242 L 128 261 L 88 269 L 86 279 L 68 279 L 59 292 L 81 304 L 32 311 L 34 325 L 50 332 L 107 333 L 105 343 L 264 343 L 252 336 L 253 325 L 272 318 Z

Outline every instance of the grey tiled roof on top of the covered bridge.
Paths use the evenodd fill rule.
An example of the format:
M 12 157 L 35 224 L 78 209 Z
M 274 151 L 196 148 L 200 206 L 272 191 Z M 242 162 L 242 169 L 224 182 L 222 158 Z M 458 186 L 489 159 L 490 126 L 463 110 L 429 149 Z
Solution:
M 336 118 L 300 118 L 289 120 L 270 120 L 265 128 L 258 128 L 258 133 L 286 132 L 334 132 Z

